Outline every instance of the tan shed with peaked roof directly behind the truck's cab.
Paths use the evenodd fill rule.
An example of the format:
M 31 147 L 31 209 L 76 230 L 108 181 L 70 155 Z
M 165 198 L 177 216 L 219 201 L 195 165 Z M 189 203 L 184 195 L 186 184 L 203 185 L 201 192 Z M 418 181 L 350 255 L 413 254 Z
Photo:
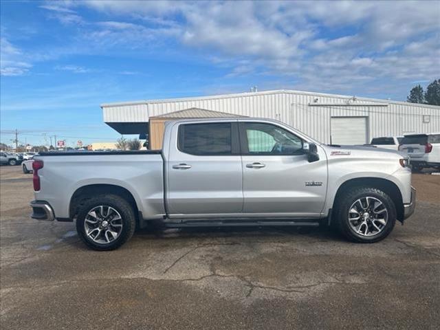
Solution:
M 148 148 L 152 150 L 157 150 L 162 148 L 165 122 L 168 122 L 169 120 L 197 119 L 197 118 L 231 118 L 231 117 L 245 117 L 245 116 L 232 115 L 231 113 L 225 113 L 220 111 L 190 108 L 190 109 L 165 113 L 164 115 L 157 115 L 155 117 L 150 117 Z

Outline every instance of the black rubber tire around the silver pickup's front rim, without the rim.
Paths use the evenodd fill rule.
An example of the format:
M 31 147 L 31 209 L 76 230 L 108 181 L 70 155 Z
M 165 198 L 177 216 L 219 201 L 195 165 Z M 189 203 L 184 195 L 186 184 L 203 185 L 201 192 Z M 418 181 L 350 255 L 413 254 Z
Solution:
M 373 197 L 382 201 L 384 207 L 388 212 L 388 220 L 382 228 L 382 231 L 378 232 L 374 236 L 363 236 L 358 234 L 351 228 L 349 221 L 349 210 L 353 203 L 362 197 Z M 355 243 L 375 243 L 378 241 L 382 241 L 394 228 L 395 222 L 397 218 L 397 212 L 395 208 L 395 204 L 391 197 L 389 197 L 385 192 L 377 188 L 354 188 L 353 190 L 349 190 L 344 192 L 340 197 L 338 197 L 338 201 L 336 203 L 336 211 L 335 218 L 338 225 L 338 230 L 340 233 L 349 241 L 353 241 Z

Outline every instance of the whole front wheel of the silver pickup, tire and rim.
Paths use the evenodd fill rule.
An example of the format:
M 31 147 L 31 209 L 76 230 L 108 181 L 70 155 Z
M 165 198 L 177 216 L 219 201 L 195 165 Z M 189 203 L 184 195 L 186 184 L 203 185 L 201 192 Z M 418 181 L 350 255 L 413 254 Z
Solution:
M 377 188 L 355 188 L 338 199 L 336 221 L 342 235 L 357 243 L 375 243 L 394 228 L 397 212 L 393 200 Z

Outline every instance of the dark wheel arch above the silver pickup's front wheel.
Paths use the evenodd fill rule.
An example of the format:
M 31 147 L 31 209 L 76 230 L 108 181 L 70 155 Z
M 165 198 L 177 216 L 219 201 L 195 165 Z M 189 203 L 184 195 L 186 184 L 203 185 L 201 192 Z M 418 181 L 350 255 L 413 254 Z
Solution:
M 399 187 L 393 181 L 380 177 L 358 177 L 344 181 L 339 186 L 333 199 L 333 210 L 336 208 L 336 204 L 344 192 L 358 187 L 377 188 L 385 192 L 395 204 L 397 220 L 404 221 L 404 203 Z

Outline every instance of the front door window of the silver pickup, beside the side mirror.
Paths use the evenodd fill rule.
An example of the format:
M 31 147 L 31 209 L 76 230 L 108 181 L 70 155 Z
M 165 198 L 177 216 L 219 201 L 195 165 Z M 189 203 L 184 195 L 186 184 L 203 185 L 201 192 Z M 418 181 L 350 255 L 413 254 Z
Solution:
M 248 155 L 298 155 L 303 153 L 303 140 L 272 124 L 249 122 L 241 124 L 247 141 L 243 153 Z

